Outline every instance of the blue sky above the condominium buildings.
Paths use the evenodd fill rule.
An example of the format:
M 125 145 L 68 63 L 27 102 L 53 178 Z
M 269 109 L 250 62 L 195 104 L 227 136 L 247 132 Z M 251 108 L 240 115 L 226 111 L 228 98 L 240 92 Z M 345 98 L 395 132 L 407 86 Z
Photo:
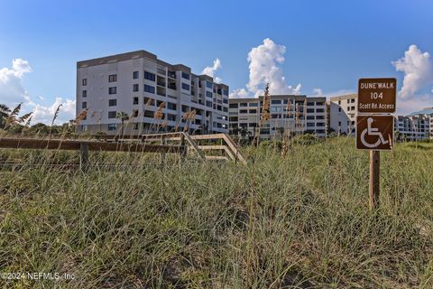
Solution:
M 215 76 L 232 92 L 254 94 L 245 88 L 252 81 L 247 56 L 268 38 L 276 48 L 285 47 L 278 52 L 284 61 L 274 61 L 284 84 L 301 84 L 302 94 L 355 91 L 363 77 L 396 77 L 401 89 L 405 75 L 415 74 L 418 81 L 408 82 L 410 95 L 401 98 L 399 111 L 432 105 L 433 65 L 423 54 L 433 53 L 430 0 L 0 0 L 0 71 L 10 72 L 13 59 L 32 70 L 15 73 L 18 79 L 4 80 L 0 89 L 25 91 L 26 109 L 36 109 L 41 119 L 69 99 L 62 116 L 67 119 L 73 114 L 77 61 L 144 49 L 196 73 L 219 59 Z M 396 71 L 392 61 L 403 58 L 410 45 L 417 50 Z M 419 58 L 423 63 L 410 67 Z M 0 90 L 0 102 L 12 106 L 12 98 Z

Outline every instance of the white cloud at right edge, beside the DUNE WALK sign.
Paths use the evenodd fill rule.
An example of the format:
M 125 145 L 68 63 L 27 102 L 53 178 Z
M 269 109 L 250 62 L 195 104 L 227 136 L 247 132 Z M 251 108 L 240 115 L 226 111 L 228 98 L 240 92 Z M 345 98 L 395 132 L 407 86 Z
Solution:
M 425 89 L 433 83 L 433 62 L 428 52 L 422 52 L 417 45 L 410 45 L 404 57 L 392 61 L 397 71 L 404 73 L 401 98 L 414 98 L 419 89 Z

